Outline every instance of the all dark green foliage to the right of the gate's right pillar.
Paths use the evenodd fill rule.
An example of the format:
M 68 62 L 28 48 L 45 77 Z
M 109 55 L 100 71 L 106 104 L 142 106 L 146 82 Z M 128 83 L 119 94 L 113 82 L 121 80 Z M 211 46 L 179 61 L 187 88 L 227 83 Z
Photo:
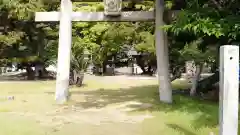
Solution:
M 240 40 L 239 4 L 237 0 L 185 1 L 177 17 L 163 27 L 173 37 L 170 47 L 172 67 L 183 65 L 181 61 L 185 60 L 216 65 L 219 45 Z M 181 48 L 177 49 L 179 46 Z

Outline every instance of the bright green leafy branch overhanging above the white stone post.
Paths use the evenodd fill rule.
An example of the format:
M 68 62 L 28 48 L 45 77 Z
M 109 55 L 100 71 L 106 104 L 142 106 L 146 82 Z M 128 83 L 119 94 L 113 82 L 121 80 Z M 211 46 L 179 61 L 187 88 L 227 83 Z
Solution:
M 217 1 L 214 4 L 204 0 L 188 1 L 187 7 L 180 11 L 176 20 L 164 28 L 176 35 L 189 32 L 198 37 L 226 37 L 228 43 L 236 41 L 240 36 L 240 19 L 235 7 L 239 3 L 235 0 L 229 3 L 221 5 Z

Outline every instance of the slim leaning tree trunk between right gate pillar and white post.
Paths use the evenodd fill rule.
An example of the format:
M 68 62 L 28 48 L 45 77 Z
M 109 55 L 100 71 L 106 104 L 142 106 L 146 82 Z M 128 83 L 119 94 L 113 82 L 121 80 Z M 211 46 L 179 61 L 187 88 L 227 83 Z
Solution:
M 203 64 L 196 65 L 196 72 L 192 80 L 192 88 L 190 90 L 190 96 L 195 96 L 197 92 L 198 82 L 200 80 Z

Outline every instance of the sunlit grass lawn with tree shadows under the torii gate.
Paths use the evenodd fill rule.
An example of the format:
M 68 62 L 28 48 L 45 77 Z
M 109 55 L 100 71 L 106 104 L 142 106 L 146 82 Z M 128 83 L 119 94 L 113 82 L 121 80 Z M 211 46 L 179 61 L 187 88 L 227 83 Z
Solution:
M 173 87 L 184 88 L 184 82 Z M 157 81 L 86 80 L 71 100 L 54 102 L 54 81 L 0 83 L 0 135 L 209 135 L 218 104 L 174 96 L 159 102 Z M 7 100 L 14 96 L 14 100 Z

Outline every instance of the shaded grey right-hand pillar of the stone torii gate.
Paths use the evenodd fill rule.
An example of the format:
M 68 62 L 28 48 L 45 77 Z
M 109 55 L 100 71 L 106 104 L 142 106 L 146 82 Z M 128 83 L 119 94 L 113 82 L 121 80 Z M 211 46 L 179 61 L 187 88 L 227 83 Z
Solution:
M 165 103 L 172 103 L 172 88 L 169 74 L 169 54 L 167 35 L 161 28 L 163 21 L 164 0 L 155 1 L 155 45 L 157 55 L 157 72 L 159 98 Z

